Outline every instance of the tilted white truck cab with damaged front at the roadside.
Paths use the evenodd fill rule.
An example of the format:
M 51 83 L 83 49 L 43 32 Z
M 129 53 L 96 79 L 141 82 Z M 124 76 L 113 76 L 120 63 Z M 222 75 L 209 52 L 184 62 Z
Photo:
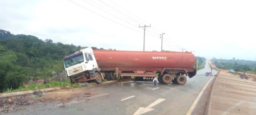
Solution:
M 103 78 L 100 76 L 100 69 L 92 48 L 85 48 L 64 57 L 64 69 L 72 83 L 87 82 L 90 80 L 96 80 L 96 83 L 100 83 Z M 97 75 L 101 78 L 97 78 Z

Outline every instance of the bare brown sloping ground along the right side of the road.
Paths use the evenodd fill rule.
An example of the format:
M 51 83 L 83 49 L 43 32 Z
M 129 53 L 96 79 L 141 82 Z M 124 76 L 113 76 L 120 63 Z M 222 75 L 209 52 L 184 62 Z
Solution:
M 255 115 L 255 81 L 255 76 L 246 80 L 221 70 L 214 83 L 206 115 Z

